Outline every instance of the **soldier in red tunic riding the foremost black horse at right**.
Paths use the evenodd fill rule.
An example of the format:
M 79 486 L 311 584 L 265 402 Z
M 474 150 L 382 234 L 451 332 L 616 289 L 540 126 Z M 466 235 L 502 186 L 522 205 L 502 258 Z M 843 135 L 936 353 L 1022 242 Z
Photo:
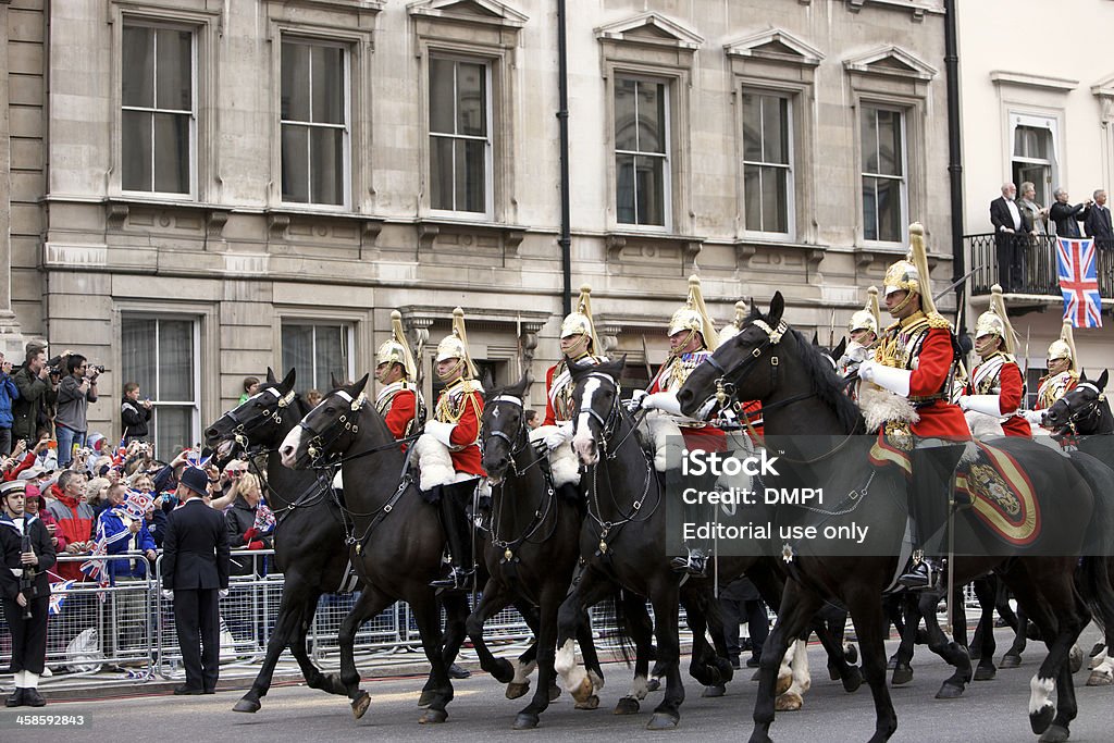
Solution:
M 962 411 L 949 401 L 959 343 L 932 303 L 924 234 L 920 224 L 910 225 L 910 257 L 886 271 L 886 309 L 898 322 L 882 333 L 873 360 L 859 366 L 859 379 L 892 393 L 887 404 L 876 390 L 863 389 L 863 409 L 868 427 L 880 423 L 887 440 L 911 449 L 909 512 L 922 548 L 947 520 L 951 475 L 965 449 L 957 442 L 970 439 Z M 901 401 L 898 411 L 892 403 Z M 872 409 L 882 412 L 872 414 Z M 912 568 L 898 579 L 908 588 L 934 585 L 935 570 L 920 551 L 935 550 L 915 551 Z

